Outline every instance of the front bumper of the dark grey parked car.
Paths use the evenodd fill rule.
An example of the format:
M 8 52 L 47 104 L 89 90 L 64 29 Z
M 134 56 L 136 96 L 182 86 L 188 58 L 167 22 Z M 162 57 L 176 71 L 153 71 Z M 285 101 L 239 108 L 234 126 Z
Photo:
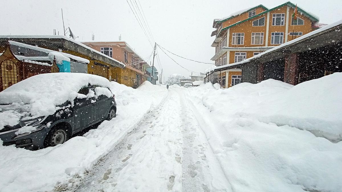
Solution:
M 19 128 L 0 132 L 0 139 L 3 141 L 4 146 L 15 145 L 16 147 L 22 147 L 30 150 L 36 148 L 41 149 L 44 147 L 44 139 L 48 132 L 47 126 L 37 125 L 35 128 L 35 131 L 19 135 L 15 134 Z

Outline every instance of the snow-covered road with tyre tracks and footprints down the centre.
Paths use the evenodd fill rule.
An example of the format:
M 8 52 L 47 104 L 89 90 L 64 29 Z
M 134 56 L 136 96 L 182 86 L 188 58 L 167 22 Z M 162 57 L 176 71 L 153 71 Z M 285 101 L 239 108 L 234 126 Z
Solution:
M 71 180 L 68 190 L 229 190 L 201 129 L 183 90 L 170 88 L 160 105 L 86 176 Z

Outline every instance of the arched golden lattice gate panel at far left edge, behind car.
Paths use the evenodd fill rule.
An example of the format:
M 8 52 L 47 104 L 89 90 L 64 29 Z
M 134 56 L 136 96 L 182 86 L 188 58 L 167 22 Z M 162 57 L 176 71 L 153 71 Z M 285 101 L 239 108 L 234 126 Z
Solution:
M 1 63 L 2 90 L 18 82 L 17 66 L 12 60 L 4 60 Z

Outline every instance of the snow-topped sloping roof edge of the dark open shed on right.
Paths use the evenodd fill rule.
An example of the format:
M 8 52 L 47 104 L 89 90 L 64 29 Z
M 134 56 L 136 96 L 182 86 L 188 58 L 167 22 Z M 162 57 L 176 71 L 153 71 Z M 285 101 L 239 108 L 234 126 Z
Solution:
M 262 53 L 260 53 L 260 54 L 258 54 L 258 55 L 254 55 L 253 57 L 250 57 L 250 58 L 245 59 L 245 60 L 243 60 L 243 61 L 240 61 L 240 62 L 237 62 L 237 63 L 232 63 L 232 64 L 227 64 L 227 65 L 222 65 L 222 66 L 219 66 L 219 67 L 212 67 L 212 68 L 209 68 L 209 69 L 207 69 L 207 70 L 209 70 L 209 71 L 207 71 L 207 72 L 211 72 L 211 71 L 214 71 L 214 70 L 216 70 L 216 69 L 221 69 L 221 68 L 225 68 L 225 67 L 230 67 L 230 66 L 234 66 L 234 65 L 239 65 L 239 64 L 247 63 L 247 62 L 249 62 L 249 61 L 251 61 L 251 60 L 253 60 L 253 59 L 255 59 L 255 58 L 261 57 L 262 55 L 265 55 L 265 54 L 267 54 L 267 53 L 269 53 L 269 52 L 273 52 L 273 51 L 275 51 L 275 50 L 278 50 L 278 49 L 280 49 L 281 47 L 284 47 L 284 46 L 287 46 L 287 45 L 296 43 L 296 42 L 301 41 L 301 40 L 303 40 L 303 39 L 305 39 L 305 38 L 308 38 L 308 37 L 313 36 L 313 35 L 315 35 L 315 34 L 317 34 L 317 33 L 320 33 L 320 32 L 322 32 L 322 31 L 325 31 L 325 30 L 330 29 L 330 28 L 332 28 L 332 27 L 336 27 L 336 26 L 341 25 L 341 24 L 342 24 L 342 20 L 339 20 L 339 21 L 337 21 L 337 22 L 335 22 L 335 23 L 332 23 L 332 24 L 330 24 L 330 25 L 327 25 L 327 26 L 325 26 L 325 27 L 322 27 L 322 28 L 319 28 L 319 29 L 317 29 L 317 30 L 311 31 L 310 33 L 307 33 L 307 34 L 305 34 L 305 35 L 303 35 L 303 36 L 301 36 L 301 37 L 298 37 L 298 38 L 296 38 L 296 39 L 293 39 L 293 40 L 291 40 L 291 41 L 288 41 L 288 42 L 286 42 L 286 43 L 283 43 L 283 44 L 281 44 L 281 45 L 278 45 L 278 46 L 276 46 L 276 47 L 274 47 L 274 48 L 272 48 L 272 49 L 269 49 L 269 50 L 267 50 L 267 51 L 265 51 L 265 52 L 262 52 Z

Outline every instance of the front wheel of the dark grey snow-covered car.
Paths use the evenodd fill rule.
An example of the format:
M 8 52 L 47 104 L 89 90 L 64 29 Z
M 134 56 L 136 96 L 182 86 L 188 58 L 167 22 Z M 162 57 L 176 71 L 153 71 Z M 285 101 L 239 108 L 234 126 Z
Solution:
M 70 139 L 69 127 L 65 125 L 55 125 L 52 127 L 44 140 L 44 147 L 53 147 L 65 143 Z

